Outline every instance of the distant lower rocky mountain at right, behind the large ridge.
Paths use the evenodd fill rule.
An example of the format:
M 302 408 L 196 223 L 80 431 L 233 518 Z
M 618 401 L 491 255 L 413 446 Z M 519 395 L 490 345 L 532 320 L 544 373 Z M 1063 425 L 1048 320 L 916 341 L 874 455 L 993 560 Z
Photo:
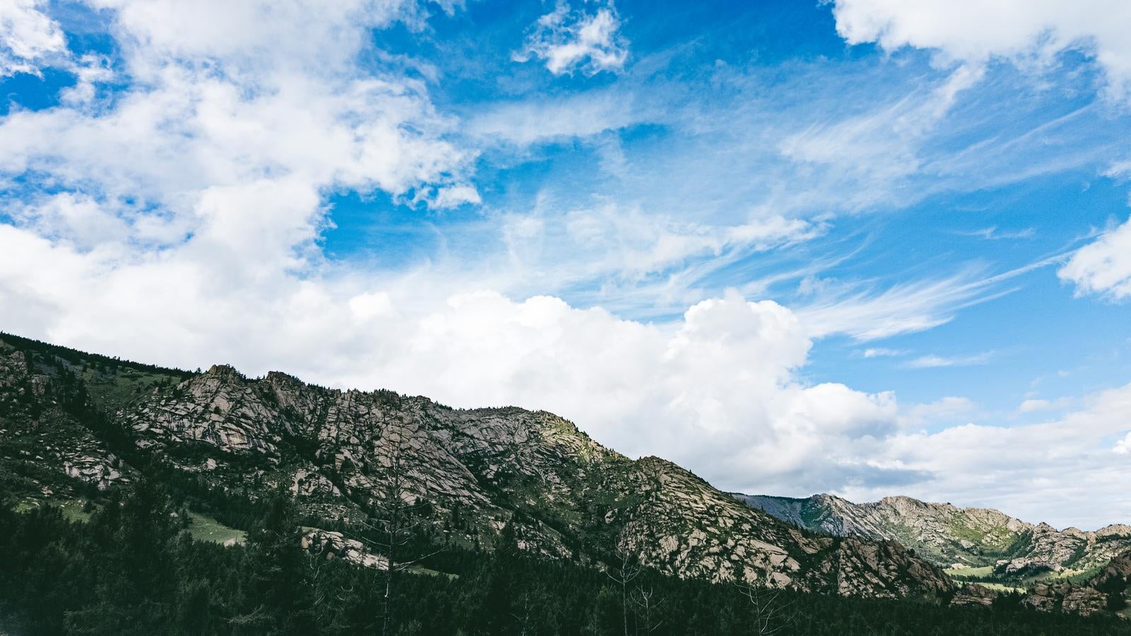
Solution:
M 909 497 L 853 504 L 831 495 L 805 499 L 732 493 L 779 519 L 814 532 L 898 541 L 959 574 L 992 568 L 999 576 L 1094 574 L 1131 549 L 1131 526 L 1095 532 L 1030 524 L 988 508 L 958 508 Z M 953 570 L 952 570 L 953 571 Z

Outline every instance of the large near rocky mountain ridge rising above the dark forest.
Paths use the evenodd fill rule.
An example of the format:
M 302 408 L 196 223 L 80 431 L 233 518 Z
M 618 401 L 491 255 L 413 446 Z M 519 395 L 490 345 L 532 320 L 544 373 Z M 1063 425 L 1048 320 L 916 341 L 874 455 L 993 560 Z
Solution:
M 450 409 L 227 366 L 185 372 L 0 335 L 0 495 L 25 506 L 157 481 L 239 525 L 284 490 L 307 545 L 405 504 L 433 543 L 848 596 L 952 593 L 882 538 L 798 528 L 658 457 L 630 459 L 546 412 Z M 390 493 L 394 493 L 390 499 Z M 249 528 L 241 528 L 249 530 Z

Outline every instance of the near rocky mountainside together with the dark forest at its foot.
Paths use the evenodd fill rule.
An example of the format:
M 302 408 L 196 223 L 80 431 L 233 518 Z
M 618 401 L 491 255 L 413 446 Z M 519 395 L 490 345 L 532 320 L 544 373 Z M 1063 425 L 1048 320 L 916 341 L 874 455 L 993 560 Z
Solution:
M 247 543 L 191 539 L 200 514 Z M 16 634 L 1125 633 L 948 607 L 896 542 L 791 526 L 550 413 L 7 335 L 0 527 Z

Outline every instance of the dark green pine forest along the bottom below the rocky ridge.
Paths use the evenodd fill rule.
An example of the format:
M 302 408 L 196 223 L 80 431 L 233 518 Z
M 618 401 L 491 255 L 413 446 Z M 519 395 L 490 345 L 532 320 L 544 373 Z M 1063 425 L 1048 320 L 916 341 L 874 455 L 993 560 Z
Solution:
M 388 574 L 300 548 L 285 496 L 262 506 L 248 541 L 224 548 L 184 532 L 184 501 L 145 482 L 88 506 L 0 506 L 0 633 L 395 635 L 1096 635 L 1117 619 L 1020 609 L 857 600 L 683 581 L 545 561 L 503 545 L 430 553 Z M 504 536 L 507 533 L 504 532 Z

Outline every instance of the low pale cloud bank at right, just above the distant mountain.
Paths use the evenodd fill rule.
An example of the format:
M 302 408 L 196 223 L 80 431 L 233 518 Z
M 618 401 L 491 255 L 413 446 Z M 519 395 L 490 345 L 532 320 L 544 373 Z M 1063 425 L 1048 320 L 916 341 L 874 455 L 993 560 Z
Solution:
M 931 475 L 904 492 L 929 501 L 985 506 L 1029 522 L 1086 530 L 1131 518 L 1128 438 L 1131 385 L 1098 392 L 1083 406 L 1047 422 L 999 427 L 964 424 L 938 432 L 893 436 L 877 462 Z M 1114 450 L 1114 452 L 1113 452 Z M 855 500 L 890 495 L 887 489 L 846 488 Z M 1104 501 L 1096 506 L 1096 501 Z

